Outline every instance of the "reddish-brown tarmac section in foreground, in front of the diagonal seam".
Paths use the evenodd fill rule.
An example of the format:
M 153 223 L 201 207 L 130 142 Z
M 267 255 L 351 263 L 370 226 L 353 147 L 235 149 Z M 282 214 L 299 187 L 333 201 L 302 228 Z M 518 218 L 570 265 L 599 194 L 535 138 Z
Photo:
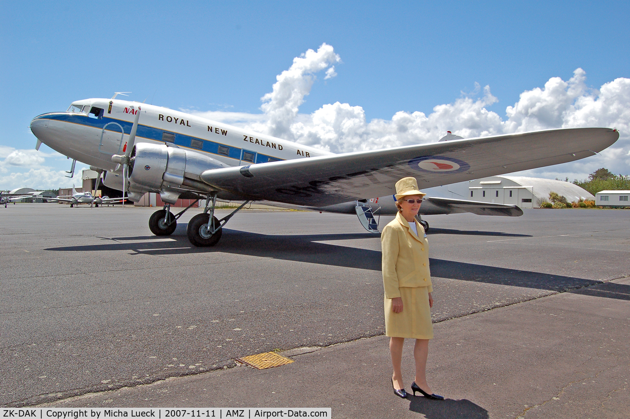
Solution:
M 281 353 L 293 363 L 228 368 L 55 407 L 331 407 L 341 418 L 630 417 L 630 278 L 434 324 L 427 376 L 444 401 L 394 396 L 386 336 Z M 404 350 L 408 390 L 412 343 Z

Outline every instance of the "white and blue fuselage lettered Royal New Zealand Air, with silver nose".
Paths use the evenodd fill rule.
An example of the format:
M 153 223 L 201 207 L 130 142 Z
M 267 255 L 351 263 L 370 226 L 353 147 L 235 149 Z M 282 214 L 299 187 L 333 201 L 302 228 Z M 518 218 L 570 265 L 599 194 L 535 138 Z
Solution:
M 270 135 L 258 134 L 188 113 L 125 100 L 86 99 L 67 112 L 39 115 L 31 131 L 55 151 L 105 170 L 125 152 L 135 113 L 141 106 L 135 142 L 168 144 L 207 154 L 228 166 L 331 154 Z

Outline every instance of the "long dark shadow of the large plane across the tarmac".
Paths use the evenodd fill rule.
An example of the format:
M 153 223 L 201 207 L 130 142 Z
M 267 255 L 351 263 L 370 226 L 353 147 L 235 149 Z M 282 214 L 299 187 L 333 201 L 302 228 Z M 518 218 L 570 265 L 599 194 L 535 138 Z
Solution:
M 185 231 L 185 227 L 184 231 Z M 180 229 L 180 226 L 178 226 Z M 305 234 L 275 236 L 226 229 L 217 246 L 195 248 L 182 235 L 166 236 L 166 240 L 154 240 L 156 236 L 132 236 L 103 238 L 102 244 L 63 246 L 47 248 L 48 251 L 132 251 L 135 255 L 181 255 L 186 253 L 230 253 L 232 255 L 258 256 L 318 265 L 381 270 L 381 252 L 340 246 L 321 241 L 374 239 L 368 232 L 351 234 Z M 137 241 L 142 240 L 142 243 Z M 146 240 L 146 241 L 145 241 Z M 563 292 L 573 290 L 576 294 L 630 300 L 630 285 L 613 284 L 585 278 L 551 275 L 508 268 L 490 267 L 474 263 L 431 258 L 433 277 L 452 278 L 486 284 L 510 285 L 533 289 Z M 597 287 L 590 287 L 597 285 Z M 590 287 L 585 289 L 583 287 Z

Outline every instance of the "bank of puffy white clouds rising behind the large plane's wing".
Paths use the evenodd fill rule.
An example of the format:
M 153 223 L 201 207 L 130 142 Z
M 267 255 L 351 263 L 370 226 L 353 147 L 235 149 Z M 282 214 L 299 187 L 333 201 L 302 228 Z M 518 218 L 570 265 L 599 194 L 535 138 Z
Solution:
M 289 70 L 277 76 L 273 91 L 263 96 L 260 119 L 239 115 L 242 127 L 275 135 L 331 152 L 350 152 L 384 147 L 435 142 L 447 130 L 464 138 L 510 134 L 532 130 L 570 127 L 616 127 L 621 138 L 599 156 L 551 168 L 539 168 L 520 175 L 547 178 L 586 178 L 597 168 L 613 173 L 628 173 L 630 166 L 630 79 L 618 78 L 599 90 L 586 84 L 586 72 L 576 69 L 568 81 L 551 77 L 542 88 L 521 93 L 519 100 L 507 106 L 505 115 L 488 110 L 498 101 L 475 83 L 470 93 L 453 103 L 437 105 L 433 112 L 397 112 L 391 120 L 367 121 L 361 106 L 348 103 L 323 105 L 310 115 L 300 114 L 299 106 L 309 94 L 314 74 L 326 69 L 326 78 L 336 75 L 331 64 L 340 62 L 333 47 L 325 43 L 318 52 L 308 50 L 294 59 Z M 205 113 L 208 115 L 208 113 Z M 226 117 L 221 117 L 226 115 Z M 214 112 L 220 120 L 229 113 Z M 595 167 L 597 166 L 597 167 Z

